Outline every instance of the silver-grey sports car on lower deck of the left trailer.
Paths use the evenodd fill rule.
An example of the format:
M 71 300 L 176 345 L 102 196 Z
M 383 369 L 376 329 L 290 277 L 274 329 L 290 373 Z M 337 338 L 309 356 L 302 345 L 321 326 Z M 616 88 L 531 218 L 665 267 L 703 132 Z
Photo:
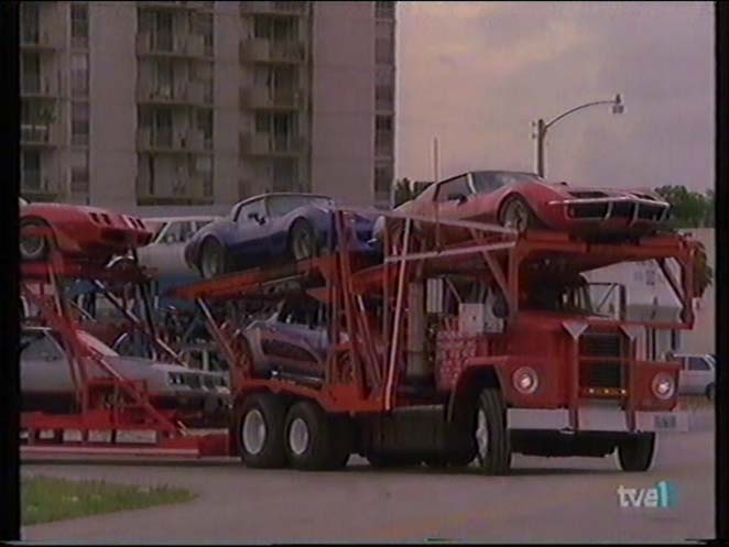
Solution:
M 155 407 L 176 409 L 181 418 L 191 418 L 191 423 L 211 424 L 225 419 L 229 405 L 225 376 L 149 359 L 121 357 L 88 332 L 79 331 L 79 337 L 124 378 L 146 381 Z M 74 383 L 57 332 L 46 327 L 23 328 L 20 370 L 23 412 L 73 412 Z M 106 375 L 98 367 L 89 367 L 87 373 L 90 378 Z

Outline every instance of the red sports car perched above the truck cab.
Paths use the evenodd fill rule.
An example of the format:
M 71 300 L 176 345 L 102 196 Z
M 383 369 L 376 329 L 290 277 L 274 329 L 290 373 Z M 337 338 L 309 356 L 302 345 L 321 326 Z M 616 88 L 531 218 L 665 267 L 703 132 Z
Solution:
M 520 232 L 547 228 L 580 236 L 638 236 L 655 230 L 668 208 L 649 192 L 573 187 L 532 173 L 474 171 L 429 186 L 396 210 L 500 223 Z

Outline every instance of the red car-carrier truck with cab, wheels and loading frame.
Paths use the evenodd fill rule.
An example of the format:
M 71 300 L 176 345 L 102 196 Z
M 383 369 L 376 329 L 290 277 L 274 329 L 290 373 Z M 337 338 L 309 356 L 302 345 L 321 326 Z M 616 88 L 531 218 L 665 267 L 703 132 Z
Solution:
M 656 433 L 686 429 L 678 364 L 649 360 L 641 333 L 693 327 L 696 243 L 676 234 L 589 243 L 437 219 L 422 230 L 434 220 L 382 215 L 381 261 L 348 250 L 350 217 L 338 210 L 335 252 L 175 289 L 197 303 L 229 363 L 228 447 L 247 466 L 337 469 L 359 453 L 381 467 L 477 459 L 499 474 L 514 452 L 617 452 L 622 470 L 644 471 Z M 467 237 L 448 243 L 440 226 Z M 583 274 L 648 260 L 659 263 L 681 317 L 598 316 Z M 314 378 L 257 369 L 244 318 L 210 309 L 302 295 L 328 310 L 330 348 Z

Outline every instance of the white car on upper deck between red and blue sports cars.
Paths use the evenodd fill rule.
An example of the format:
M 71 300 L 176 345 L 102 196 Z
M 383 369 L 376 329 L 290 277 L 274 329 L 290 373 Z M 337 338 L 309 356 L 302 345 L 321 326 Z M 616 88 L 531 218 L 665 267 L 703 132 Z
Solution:
M 140 265 L 154 271 L 157 278 L 197 276 L 185 262 L 185 244 L 197 230 L 216 219 L 214 216 L 142 219 L 154 237 L 150 244 L 137 250 Z

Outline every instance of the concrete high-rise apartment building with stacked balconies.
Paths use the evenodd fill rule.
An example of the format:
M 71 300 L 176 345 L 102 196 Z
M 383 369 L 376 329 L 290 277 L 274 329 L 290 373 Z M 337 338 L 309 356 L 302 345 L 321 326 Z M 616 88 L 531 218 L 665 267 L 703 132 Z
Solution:
M 226 210 L 387 206 L 394 2 L 22 2 L 21 192 Z

